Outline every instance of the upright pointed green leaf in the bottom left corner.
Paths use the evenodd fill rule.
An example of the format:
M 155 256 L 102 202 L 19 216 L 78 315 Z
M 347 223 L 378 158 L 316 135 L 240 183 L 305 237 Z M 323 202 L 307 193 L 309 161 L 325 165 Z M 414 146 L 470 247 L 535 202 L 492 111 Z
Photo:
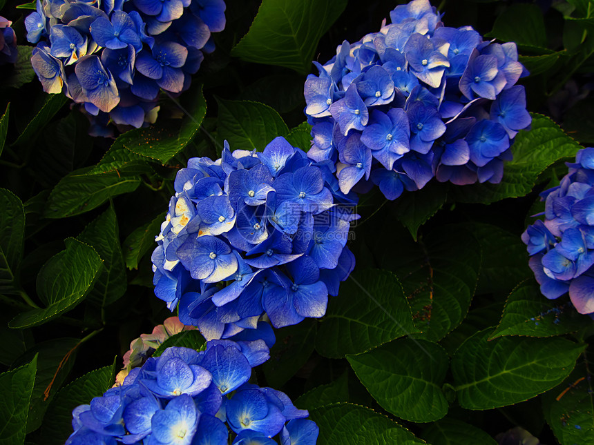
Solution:
M 0 374 L 0 445 L 25 442 L 37 357 L 30 364 Z

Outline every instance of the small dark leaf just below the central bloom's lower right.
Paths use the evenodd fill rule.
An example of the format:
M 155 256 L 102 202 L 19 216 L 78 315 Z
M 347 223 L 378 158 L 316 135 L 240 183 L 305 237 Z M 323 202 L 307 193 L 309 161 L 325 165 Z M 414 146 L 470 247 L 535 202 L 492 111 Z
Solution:
M 308 319 L 275 331 L 276 343 L 270 349 L 270 359 L 262 365 L 269 386 L 282 387 L 307 362 L 314 352 L 316 327 L 317 322 Z

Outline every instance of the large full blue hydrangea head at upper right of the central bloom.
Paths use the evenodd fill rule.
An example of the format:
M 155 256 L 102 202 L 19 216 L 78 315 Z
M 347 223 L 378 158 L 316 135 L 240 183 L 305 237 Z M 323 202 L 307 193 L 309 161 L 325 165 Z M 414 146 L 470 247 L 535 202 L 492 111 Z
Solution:
M 515 43 L 447 28 L 428 0 L 390 12 L 391 25 L 343 42 L 305 81 L 307 155 L 336 165 L 343 192 L 379 186 L 387 199 L 432 177 L 497 183 L 518 130 L 530 125 Z

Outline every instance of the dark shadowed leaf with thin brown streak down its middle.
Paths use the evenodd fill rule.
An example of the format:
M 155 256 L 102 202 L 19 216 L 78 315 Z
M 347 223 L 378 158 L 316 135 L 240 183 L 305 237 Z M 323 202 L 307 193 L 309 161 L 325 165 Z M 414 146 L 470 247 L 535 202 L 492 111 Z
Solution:
M 481 266 L 481 248 L 468 228 L 441 226 L 417 243 L 406 236 L 392 237 L 383 240 L 381 248 L 383 267 L 401 279 L 421 331 L 413 337 L 437 341 L 462 322 Z

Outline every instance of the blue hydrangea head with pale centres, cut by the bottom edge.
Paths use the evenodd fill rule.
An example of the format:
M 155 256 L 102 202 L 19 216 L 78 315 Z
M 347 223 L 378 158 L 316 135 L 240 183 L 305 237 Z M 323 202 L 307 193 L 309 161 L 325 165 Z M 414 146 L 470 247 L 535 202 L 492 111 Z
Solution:
M 262 339 L 167 348 L 121 386 L 75 408 L 66 445 L 274 445 L 274 436 L 282 445 L 316 444 L 307 411 L 285 393 L 248 383 L 251 368 L 268 358 Z

